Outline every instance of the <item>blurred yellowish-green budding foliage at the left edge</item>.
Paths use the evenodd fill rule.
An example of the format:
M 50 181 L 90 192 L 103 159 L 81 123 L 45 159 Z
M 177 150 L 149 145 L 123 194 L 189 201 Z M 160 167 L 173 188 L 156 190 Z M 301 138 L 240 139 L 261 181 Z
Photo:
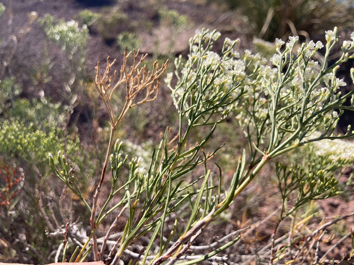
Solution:
M 2 156 L 8 159 L 23 159 L 31 166 L 47 168 L 46 154 L 64 148 L 63 130 L 68 111 L 60 104 L 51 104 L 47 99 L 16 99 L 1 120 L 0 147 Z M 8 117 L 8 118 L 5 118 Z M 81 149 L 77 136 L 67 135 L 68 153 L 78 153 Z M 80 164 L 77 157 L 72 163 Z M 78 166 L 77 165 L 77 166 Z M 47 171 L 41 172 L 46 175 Z

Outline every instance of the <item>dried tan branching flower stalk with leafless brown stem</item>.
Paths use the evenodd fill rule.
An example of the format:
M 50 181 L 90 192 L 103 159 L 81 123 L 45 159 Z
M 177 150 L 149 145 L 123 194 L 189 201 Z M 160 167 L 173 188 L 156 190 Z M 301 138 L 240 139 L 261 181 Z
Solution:
M 94 81 L 95 81 L 96 88 L 99 94 L 101 95 L 101 98 L 103 99 L 104 106 L 106 107 L 110 117 L 111 133 L 110 133 L 110 139 L 107 148 L 105 162 L 102 168 L 101 179 L 97 184 L 95 196 L 93 197 L 93 205 L 92 205 L 92 212 L 90 218 L 90 223 L 93 231 L 92 240 L 93 240 L 93 252 L 95 253 L 95 261 L 97 261 L 99 258 L 97 237 L 95 234 L 95 230 L 97 229 L 95 214 L 98 205 L 99 191 L 101 189 L 101 185 L 104 180 L 105 172 L 109 161 L 110 150 L 113 144 L 114 132 L 117 129 L 123 117 L 125 116 L 125 114 L 128 112 L 128 110 L 131 107 L 142 104 L 144 102 L 153 101 L 156 99 L 159 93 L 159 86 L 160 86 L 160 82 L 158 81 L 158 78 L 166 71 L 167 65 L 169 64 L 169 60 L 167 60 L 166 63 L 162 64 L 162 67 L 159 68 L 159 64 L 157 63 L 157 61 L 155 61 L 153 70 L 151 72 L 147 71 L 146 65 L 144 65 L 143 67 L 141 67 L 141 65 L 144 59 L 148 56 L 148 54 L 143 54 L 141 55 L 140 59 L 138 59 L 139 51 L 140 49 L 137 52 L 133 50 L 133 52 L 128 53 L 127 49 L 125 48 L 124 60 L 120 68 L 120 77 L 118 81 L 116 81 L 116 74 L 117 74 L 116 70 L 114 71 L 113 75 L 110 75 L 110 71 L 112 69 L 112 66 L 116 63 L 116 59 L 114 59 L 113 62 L 110 63 L 109 57 L 107 57 L 107 65 L 103 75 L 101 75 L 99 62 L 97 63 L 96 66 L 96 77 L 94 78 Z M 131 57 L 131 55 L 133 59 L 133 64 L 132 66 L 128 67 L 127 61 Z M 112 104 L 112 95 L 115 92 L 115 90 L 120 86 L 126 87 L 126 102 L 124 107 L 119 113 L 119 111 L 115 111 L 114 106 Z M 139 92 L 142 92 L 143 90 L 145 90 L 144 98 L 140 101 L 136 101 L 137 95 L 139 94 Z

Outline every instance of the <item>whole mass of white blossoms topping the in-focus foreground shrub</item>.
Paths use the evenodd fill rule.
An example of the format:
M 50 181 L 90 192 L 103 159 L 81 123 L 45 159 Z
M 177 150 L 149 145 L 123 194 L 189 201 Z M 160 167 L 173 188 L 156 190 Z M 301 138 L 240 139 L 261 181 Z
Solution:
M 333 47 L 331 43 L 338 42 L 336 34 L 337 29 L 326 31 L 327 51 Z M 278 124 L 276 128 L 280 130 L 275 136 L 285 137 L 300 126 L 299 114 L 302 122 L 307 123 L 301 125 L 306 126 L 302 139 L 307 133 L 324 128 L 325 132 L 333 133 L 343 111 L 336 112 L 336 108 L 329 105 L 343 104 L 339 100 L 341 92 L 338 90 L 347 85 L 343 79 L 336 77 L 336 71 L 340 63 L 350 58 L 347 52 L 354 49 L 354 33 L 351 41 L 343 43 L 343 55 L 337 65 L 327 70 L 315 59 L 318 50 L 324 48 L 320 41 L 303 43 L 295 50 L 298 36 L 290 36 L 287 42 L 276 39 L 276 53 L 267 60 L 249 50 L 240 56 L 235 48 L 239 40 L 229 38 L 225 38 L 221 53 L 211 51 L 219 37 L 216 30 L 197 31 L 190 39 L 188 61 L 183 65 L 181 58 L 176 59 L 177 85 L 171 87 L 172 73 L 167 75 L 166 82 L 172 90 L 177 109 L 182 95 L 193 94 L 193 99 L 198 99 L 202 91 L 203 100 L 211 106 L 228 93 L 228 89 L 236 86 L 232 95 L 237 100 L 223 107 L 222 114 L 225 117 L 231 111 L 236 112 L 236 118 L 247 137 L 257 135 L 258 142 L 268 141 L 266 139 L 270 132 L 275 130 L 271 129 L 274 123 Z M 269 61 L 273 66 L 270 66 L 272 64 Z M 204 87 L 207 89 L 201 90 Z M 238 98 L 240 94 L 242 96 Z M 304 100 L 306 107 L 303 107 Z M 277 109 L 275 113 L 274 107 Z M 188 105 L 184 108 L 188 108 Z M 316 123 L 312 123 L 310 117 L 316 117 Z M 272 118 L 275 120 L 272 121 Z

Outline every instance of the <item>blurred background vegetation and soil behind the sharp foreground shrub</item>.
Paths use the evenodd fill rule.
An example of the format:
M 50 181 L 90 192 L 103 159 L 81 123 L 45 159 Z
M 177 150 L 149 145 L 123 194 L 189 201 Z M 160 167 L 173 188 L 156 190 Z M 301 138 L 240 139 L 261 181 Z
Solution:
M 325 42 L 324 31 L 334 26 L 347 39 L 354 30 L 352 0 L 0 1 L 0 170 L 7 172 L 7 178 L 0 179 L 0 200 L 4 202 L 0 204 L 0 261 L 6 262 L 52 261 L 60 240 L 48 237 L 48 232 L 65 224 L 72 211 L 82 210 L 72 204 L 77 198 L 52 177 L 48 152 L 64 150 L 69 157 L 76 157 L 70 163 L 80 172 L 83 187 L 97 180 L 109 137 L 108 116 L 92 82 L 97 61 L 105 61 L 109 55 L 119 65 L 125 47 L 140 48 L 151 62 L 173 61 L 179 55 L 186 58 L 189 38 L 202 27 L 218 29 L 223 37 L 240 38 L 240 51 L 249 49 L 268 59 L 275 52 L 275 38 L 299 36 L 302 42 Z M 336 55 L 330 59 L 335 60 Z M 167 72 L 173 70 L 172 65 Z M 351 67 L 353 61 L 348 61 L 339 70 L 349 84 Z M 342 92 L 346 89 L 353 86 Z M 129 112 L 116 133 L 126 139 L 126 153 L 145 156 L 148 163 L 161 133 L 178 120 L 171 111 L 169 93 L 162 86 L 156 101 Z M 119 104 L 123 95 L 114 100 Z M 338 131 L 353 121 L 354 117 L 345 113 Z M 215 148 L 230 143 L 215 157 L 225 170 L 223 182 L 227 185 L 244 136 L 233 117 L 221 124 L 219 131 L 223 133 L 216 133 L 209 145 Z M 235 136 L 238 141 L 233 140 Z M 198 141 L 199 135 L 194 138 Z M 8 167 L 13 170 L 5 170 Z M 269 172 L 274 168 L 269 166 Z M 352 169 L 341 173 L 347 183 Z M 277 207 L 270 203 L 280 203 L 274 192 L 274 174 L 259 178 L 271 181 L 256 182 L 252 192 L 242 195 L 249 203 L 233 205 L 216 225 L 228 230 L 240 228 L 247 219 L 257 220 Z M 92 198 L 92 190 L 83 192 Z M 328 214 L 347 213 L 350 207 L 354 209 L 350 199 L 354 200 L 353 194 L 329 204 L 309 204 L 303 214 L 320 220 Z M 244 207 L 250 204 L 252 208 Z M 54 227 L 48 218 L 54 220 Z M 350 227 L 350 222 L 354 219 L 338 224 L 337 232 Z M 247 252 L 247 246 L 268 240 L 271 233 L 272 224 L 266 224 L 254 237 L 242 238 L 241 248 Z M 341 258 L 347 246 L 340 245 L 332 257 Z

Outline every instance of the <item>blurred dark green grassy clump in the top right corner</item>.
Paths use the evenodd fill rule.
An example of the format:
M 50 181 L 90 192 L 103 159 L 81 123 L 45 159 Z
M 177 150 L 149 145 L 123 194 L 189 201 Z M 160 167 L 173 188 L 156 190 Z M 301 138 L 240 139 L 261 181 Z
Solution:
M 228 2 L 247 17 L 254 35 L 262 34 L 261 37 L 268 41 L 274 41 L 276 37 L 281 38 L 286 34 L 292 36 L 294 33 L 291 31 L 291 24 L 297 31 L 306 31 L 311 36 L 335 26 L 339 30 L 353 27 L 354 10 L 351 1 L 228 0 Z

